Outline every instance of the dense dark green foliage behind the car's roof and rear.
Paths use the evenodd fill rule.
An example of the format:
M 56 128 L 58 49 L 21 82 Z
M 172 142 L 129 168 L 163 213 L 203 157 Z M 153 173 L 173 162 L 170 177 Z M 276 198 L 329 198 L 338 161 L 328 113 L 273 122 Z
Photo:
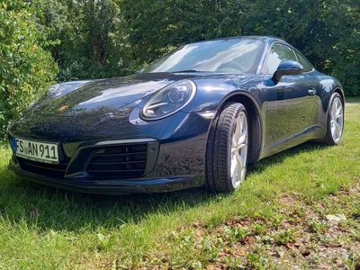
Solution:
M 320 71 L 338 76 L 347 94 L 360 95 L 357 0 L 124 0 L 123 6 L 139 66 L 194 40 L 273 35 L 300 49 Z

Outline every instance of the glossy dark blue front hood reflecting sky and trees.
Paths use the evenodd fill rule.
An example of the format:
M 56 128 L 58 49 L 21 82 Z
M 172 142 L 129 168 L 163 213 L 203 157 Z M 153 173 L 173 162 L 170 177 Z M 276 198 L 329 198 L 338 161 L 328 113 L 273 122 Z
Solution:
M 36 115 L 78 116 L 114 112 L 184 76 L 142 74 L 59 85 L 29 108 Z M 187 76 L 188 77 L 188 76 Z

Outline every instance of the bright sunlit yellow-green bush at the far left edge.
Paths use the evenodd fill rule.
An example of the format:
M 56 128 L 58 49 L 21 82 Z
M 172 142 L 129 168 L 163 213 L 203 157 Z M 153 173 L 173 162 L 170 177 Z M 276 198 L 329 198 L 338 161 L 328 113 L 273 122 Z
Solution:
M 41 32 L 26 4 L 0 2 L 0 140 L 8 123 L 19 116 L 57 73 L 49 52 L 41 49 Z

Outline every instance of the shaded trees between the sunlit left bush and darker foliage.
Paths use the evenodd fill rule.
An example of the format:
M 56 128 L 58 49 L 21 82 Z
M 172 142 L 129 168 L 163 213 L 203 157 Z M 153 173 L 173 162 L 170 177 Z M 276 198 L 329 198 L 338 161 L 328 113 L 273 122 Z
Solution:
M 60 67 L 58 80 L 121 76 L 129 65 L 119 0 L 36 0 L 32 4 L 49 49 Z

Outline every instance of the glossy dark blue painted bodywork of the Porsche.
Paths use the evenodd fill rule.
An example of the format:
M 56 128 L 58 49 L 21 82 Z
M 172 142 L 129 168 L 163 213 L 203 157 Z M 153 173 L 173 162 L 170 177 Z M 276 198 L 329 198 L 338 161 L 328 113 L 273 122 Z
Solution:
M 250 153 L 253 162 L 306 140 L 323 139 L 330 95 L 338 91 L 344 96 L 338 80 L 314 68 L 300 72 L 302 65 L 294 61 L 281 64 L 283 74 L 274 80 L 274 75 L 264 72 L 269 49 L 275 42 L 293 47 L 273 37 L 251 39 L 265 44 L 252 75 L 142 73 L 60 85 L 14 121 L 9 136 L 59 142 L 71 170 L 60 179 L 34 175 L 23 170 L 16 157 L 10 168 L 43 184 L 92 193 L 153 193 L 201 186 L 214 116 L 225 103 L 236 100 L 254 108 L 250 125 L 258 134 L 253 141 L 257 146 Z M 295 70 L 293 75 L 289 75 L 290 69 Z M 139 117 L 152 94 L 181 79 L 190 79 L 196 85 L 190 103 L 158 121 Z M 86 158 L 76 154 L 79 148 L 123 139 L 158 142 L 156 162 L 147 175 L 136 179 L 90 178 L 85 173 Z

